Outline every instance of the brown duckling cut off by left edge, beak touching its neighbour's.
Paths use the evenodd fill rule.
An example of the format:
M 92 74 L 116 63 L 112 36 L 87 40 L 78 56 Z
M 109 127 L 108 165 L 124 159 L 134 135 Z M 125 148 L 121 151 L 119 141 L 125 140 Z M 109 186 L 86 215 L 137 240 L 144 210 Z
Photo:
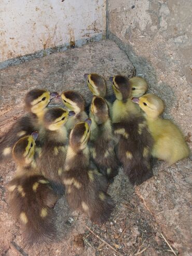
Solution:
M 3 135 L 0 140 L 0 161 L 11 157 L 12 147 L 19 138 L 31 134 L 34 130 L 39 130 L 47 105 L 57 96 L 57 92 L 50 93 L 43 89 L 33 89 L 26 93 L 24 104 L 29 113 L 21 117 Z

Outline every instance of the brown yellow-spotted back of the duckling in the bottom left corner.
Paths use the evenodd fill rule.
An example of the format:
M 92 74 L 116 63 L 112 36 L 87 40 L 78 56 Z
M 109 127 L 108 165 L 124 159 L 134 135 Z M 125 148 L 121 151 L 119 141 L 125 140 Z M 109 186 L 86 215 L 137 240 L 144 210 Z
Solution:
M 52 207 L 57 196 L 43 176 L 16 177 L 8 184 L 8 203 L 20 222 L 26 246 L 49 243 L 55 236 Z

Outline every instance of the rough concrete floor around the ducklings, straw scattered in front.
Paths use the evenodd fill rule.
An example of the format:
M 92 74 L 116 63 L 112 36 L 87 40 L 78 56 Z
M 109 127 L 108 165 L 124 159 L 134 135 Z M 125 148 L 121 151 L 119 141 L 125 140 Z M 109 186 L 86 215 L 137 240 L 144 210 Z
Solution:
M 59 92 L 76 89 L 89 103 L 91 93 L 83 79 L 83 74 L 89 72 L 97 72 L 108 79 L 119 73 L 131 77 L 135 70 L 126 53 L 112 41 L 92 43 L 1 70 L 0 134 L 25 113 L 22 100 L 29 89 L 39 87 Z M 107 87 L 110 95 L 112 89 L 108 82 Z M 10 161 L 0 168 L 1 255 L 111 256 L 135 255 L 142 250 L 139 255 L 173 255 L 160 233 L 168 239 L 176 253 L 190 255 L 192 168 L 189 159 L 170 168 L 158 162 L 154 169 L 155 177 L 136 188 L 120 171 L 109 187 L 116 208 L 103 226 L 93 225 L 84 215 L 72 212 L 65 198 L 61 198 L 55 207 L 56 241 L 47 247 L 32 249 L 23 248 L 19 224 L 8 210 L 6 185 L 15 172 L 15 164 Z M 102 245 L 87 226 L 113 249 Z

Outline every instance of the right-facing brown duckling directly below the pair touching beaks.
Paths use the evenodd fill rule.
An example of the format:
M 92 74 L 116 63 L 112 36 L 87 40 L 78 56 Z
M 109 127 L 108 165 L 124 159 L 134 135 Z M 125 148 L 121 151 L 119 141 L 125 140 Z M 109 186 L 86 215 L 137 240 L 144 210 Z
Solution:
M 68 144 L 67 130 L 64 125 L 68 117 L 73 115 L 75 115 L 74 111 L 68 112 L 61 107 L 52 107 L 47 110 L 43 118 L 44 144 L 38 151 L 37 168 L 50 181 L 54 192 L 58 195 L 64 193 L 61 174 Z

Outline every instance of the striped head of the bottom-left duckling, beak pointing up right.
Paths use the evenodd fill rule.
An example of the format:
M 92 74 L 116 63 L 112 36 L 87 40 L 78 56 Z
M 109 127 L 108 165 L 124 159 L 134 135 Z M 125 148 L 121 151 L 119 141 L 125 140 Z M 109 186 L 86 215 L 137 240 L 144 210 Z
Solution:
M 12 149 L 12 156 L 20 166 L 28 166 L 34 160 L 35 140 L 38 132 L 34 131 L 30 136 L 25 136 L 18 140 Z

